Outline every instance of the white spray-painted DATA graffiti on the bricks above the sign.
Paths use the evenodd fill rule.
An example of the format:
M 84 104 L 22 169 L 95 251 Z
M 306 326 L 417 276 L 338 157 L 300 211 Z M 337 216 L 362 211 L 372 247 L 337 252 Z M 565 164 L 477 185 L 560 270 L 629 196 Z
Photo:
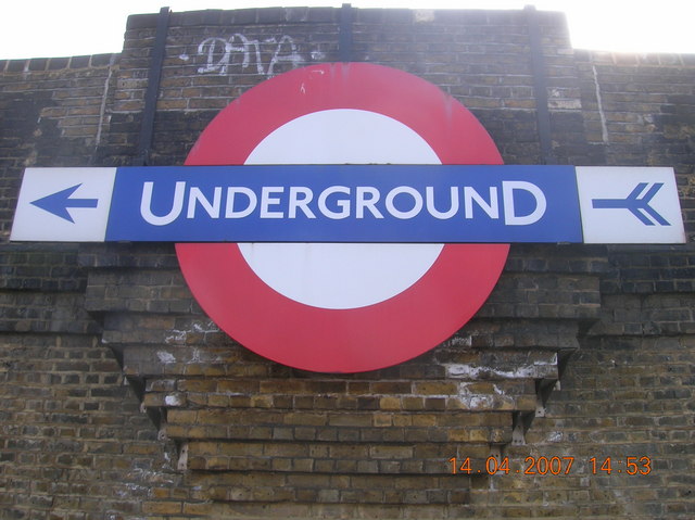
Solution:
M 275 47 L 273 47 L 275 46 Z M 263 63 L 262 51 L 271 52 L 267 66 Z M 305 60 L 298 52 L 294 40 L 289 36 L 282 36 L 279 40 L 268 38 L 263 41 L 252 40 L 242 34 L 235 34 L 229 38 L 205 38 L 198 46 L 198 55 L 204 56 L 206 63 L 198 68 L 199 74 L 219 74 L 224 76 L 235 65 L 236 55 L 241 59 L 241 68 L 249 68 L 255 63 L 256 73 L 270 77 L 275 73 L 278 63 L 291 63 L 292 68 L 300 66 Z M 186 54 L 181 60 L 188 60 Z

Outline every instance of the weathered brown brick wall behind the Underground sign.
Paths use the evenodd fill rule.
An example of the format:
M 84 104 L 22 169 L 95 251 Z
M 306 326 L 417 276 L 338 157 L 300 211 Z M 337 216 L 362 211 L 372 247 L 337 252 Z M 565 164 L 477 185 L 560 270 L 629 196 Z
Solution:
M 350 30 L 352 60 L 439 85 L 506 163 L 538 164 L 531 15 L 174 13 L 150 163 L 181 164 L 231 100 L 338 60 Z M 538 16 L 554 160 L 673 166 L 691 242 L 516 244 L 453 338 L 350 376 L 235 343 L 169 244 L 7 241 L 24 167 L 138 160 L 156 15 L 121 54 L 0 62 L 0 518 L 692 518 L 695 58 L 577 51 Z M 560 474 L 525 474 L 541 457 Z

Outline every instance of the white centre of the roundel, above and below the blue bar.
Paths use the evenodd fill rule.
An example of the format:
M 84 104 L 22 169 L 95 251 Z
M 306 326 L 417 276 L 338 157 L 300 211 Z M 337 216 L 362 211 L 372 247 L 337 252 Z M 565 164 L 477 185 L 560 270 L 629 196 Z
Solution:
M 361 110 L 306 114 L 270 132 L 245 164 L 441 164 L 404 124 Z M 321 308 L 356 308 L 405 291 L 442 244 L 241 243 L 249 266 L 280 294 Z

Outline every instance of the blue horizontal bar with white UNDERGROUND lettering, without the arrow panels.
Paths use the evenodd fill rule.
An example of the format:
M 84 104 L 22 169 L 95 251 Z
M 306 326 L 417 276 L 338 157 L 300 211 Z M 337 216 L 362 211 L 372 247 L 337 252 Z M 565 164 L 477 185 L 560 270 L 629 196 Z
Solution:
M 581 242 L 573 166 L 118 168 L 108 241 Z

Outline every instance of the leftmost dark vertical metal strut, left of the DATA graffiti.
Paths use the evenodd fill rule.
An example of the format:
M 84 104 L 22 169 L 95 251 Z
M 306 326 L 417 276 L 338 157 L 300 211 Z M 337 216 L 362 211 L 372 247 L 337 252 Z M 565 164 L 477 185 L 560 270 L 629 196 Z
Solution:
M 156 33 L 154 47 L 150 56 L 150 72 L 148 74 L 148 88 L 144 93 L 144 107 L 142 110 L 142 124 L 140 126 L 140 140 L 138 142 L 138 155 L 134 165 L 147 166 L 150 162 L 150 149 L 154 134 L 154 114 L 156 112 L 156 99 L 160 91 L 160 78 L 166 49 L 166 33 L 169 26 L 169 8 L 162 8 L 156 20 Z

